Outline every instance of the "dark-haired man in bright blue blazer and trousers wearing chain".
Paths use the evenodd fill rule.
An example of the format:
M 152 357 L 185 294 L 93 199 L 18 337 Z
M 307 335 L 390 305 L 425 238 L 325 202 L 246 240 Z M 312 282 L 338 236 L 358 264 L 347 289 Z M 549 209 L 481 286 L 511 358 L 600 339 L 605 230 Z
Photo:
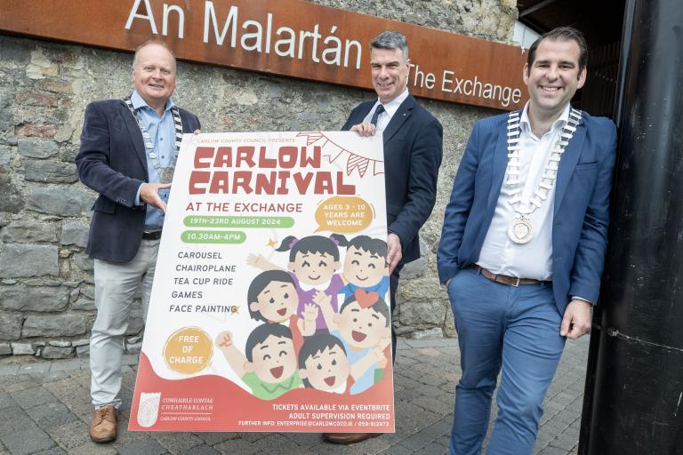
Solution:
M 451 454 L 480 453 L 499 372 L 487 453 L 531 453 L 565 339 L 591 327 L 616 129 L 569 105 L 586 52 L 574 28 L 539 38 L 526 107 L 478 121 L 455 176 L 438 247 L 462 365 Z

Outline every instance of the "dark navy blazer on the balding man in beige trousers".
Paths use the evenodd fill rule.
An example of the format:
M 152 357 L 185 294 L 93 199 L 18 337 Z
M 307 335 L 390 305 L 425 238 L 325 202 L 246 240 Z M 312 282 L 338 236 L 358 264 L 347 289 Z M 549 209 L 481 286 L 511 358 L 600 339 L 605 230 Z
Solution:
M 197 116 L 180 111 L 183 132 L 199 129 Z M 93 259 L 130 261 L 140 248 L 147 207 L 133 204 L 149 177 L 142 133 L 124 101 L 95 101 L 85 108 L 76 166 L 84 185 L 100 193 L 85 252 Z

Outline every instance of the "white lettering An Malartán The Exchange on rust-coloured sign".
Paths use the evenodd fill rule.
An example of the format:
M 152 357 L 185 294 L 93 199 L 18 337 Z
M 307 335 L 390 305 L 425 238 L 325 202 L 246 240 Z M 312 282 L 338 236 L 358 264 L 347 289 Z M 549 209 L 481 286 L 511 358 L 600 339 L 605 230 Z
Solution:
M 125 29 L 130 30 L 133 22 L 138 20 L 143 22 L 142 28 L 149 27 L 152 34 L 158 35 L 157 23 L 160 20 L 161 35 L 170 34 L 180 39 L 185 37 L 185 15 L 192 12 L 184 11 L 178 4 L 162 4 L 163 9 L 156 9 L 155 18 L 150 0 L 134 0 L 132 3 Z M 292 27 L 291 24 L 278 22 L 277 9 L 273 7 L 262 8 L 261 12 L 250 12 L 257 17 L 244 17 L 245 8 L 240 11 L 238 2 L 214 4 L 214 0 L 205 0 L 204 4 L 201 32 L 197 28 L 197 36 L 190 40 L 199 38 L 201 33 L 205 44 L 231 48 L 237 52 L 274 53 L 278 57 L 302 60 L 308 64 L 352 68 L 357 71 L 361 69 L 363 47 L 360 40 L 344 37 L 343 30 L 339 30 L 337 25 L 330 25 L 327 29 L 327 25 L 321 26 L 318 22 L 301 29 L 301 26 Z M 195 11 L 201 18 L 201 12 Z M 193 23 L 191 19 L 190 17 L 189 23 Z M 420 89 L 422 93 L 432 92 L 432 96 L 436 95 L 438 100 L 462 102 L 478 99 L 474 104 L 491 106 L 494 103 L 496 108 L 515 108 L 523 98 L 521 88 L 515 87 L 514 83 L 496 84 L 486 81 L 487 76 L 471 76 L 471 71 L 429 68 L 430 65 L 433 66 L 429 60 L 422 67 L 417 62 L 412 62 L 408 84 Z

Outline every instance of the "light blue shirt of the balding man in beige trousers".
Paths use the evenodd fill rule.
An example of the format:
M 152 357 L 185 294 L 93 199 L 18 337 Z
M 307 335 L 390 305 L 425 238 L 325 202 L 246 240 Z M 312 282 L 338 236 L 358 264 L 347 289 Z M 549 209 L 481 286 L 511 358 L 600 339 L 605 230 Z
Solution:
M 173 114 L 170 110 L 173 108 L 173 100 L 166 102 L 164 117 L 159 118 L 157 111 L 150 108 L 145 100 L 142 100 L 140 93 L 133 91 L 131 95 L 133 108 L 141 117 L 143 124 L 147 127 L 149 139 L 143 138 L 145 144 L 152 142 L 154 148 L 151 150 L 157 154 L 157 158 L 162 167 L 174 166 L 173 158 L 175 156 L 175 124 L 173 124 Z M 159 172 L 154 167 L 152 158 L 149 157 L 150 150 L 145 148 L 145 156 L 147 156 L 147 175 L 149 183 L 159 183 Z M 144 202 L 140 200 L 140 188 L 138 194 L 135 196 L 135 204 L 142 205 Z M 168 195 L 170 190 L 162 189 L 159 191 L 159 196 L 168 203 Z M 164 225 L 164 211 L 161 211 L 151 205 L 147 206 L 147 214 L 145 216 L 145 229 L 161 228 Z

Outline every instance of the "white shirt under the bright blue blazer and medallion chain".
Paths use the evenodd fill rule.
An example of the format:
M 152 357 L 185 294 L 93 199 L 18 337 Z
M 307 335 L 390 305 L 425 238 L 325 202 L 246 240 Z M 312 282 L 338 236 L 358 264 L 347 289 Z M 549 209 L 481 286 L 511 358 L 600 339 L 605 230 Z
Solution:
M 559 132 L 569 120 L 570 106 L 567 103 L 562 114 L 550 127 L 550 131 L 537 138 L 531 131 L 528 115 L 529 104 L 526 103 L 520 119 L 519 145 L 519 179 L 524 181 L 521 205 L 529 206 L 529 199 L 538 188 L 551 150 L 555 148 Z M 562 161 L 560 159 L 560 166 Z M 507 172 L 502 188 L 507 186 Z M 556 182 L 557 183 L 557 182 Z M 509 196 L 501 192 L 495 205 L 494 218 L 486 233 L 484 244 L 479 253 L 478 265 L 497 275 L 532 278 L 535 280 L 552 280 L 552 214 L 555 203 L 555 187 L 548 192 L 548 197 L 526 218 L 531 220 L 534 236 L 529 243 L 514 243 L 508 237 L 510 221 L 518 216 Z M 533 205 L 532 205 L 533 206 Z

